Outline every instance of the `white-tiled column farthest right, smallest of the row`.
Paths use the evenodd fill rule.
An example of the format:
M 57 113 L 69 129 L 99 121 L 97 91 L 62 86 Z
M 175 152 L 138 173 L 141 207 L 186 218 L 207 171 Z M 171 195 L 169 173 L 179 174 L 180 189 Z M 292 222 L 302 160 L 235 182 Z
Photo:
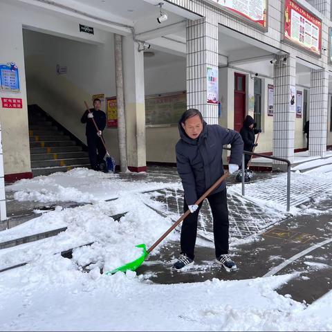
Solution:
M 309 113 L 309 155 L 326 154 L 327 105 L 329 98 L 329 72 L 325 69 L 311 69 L 310 113 Z

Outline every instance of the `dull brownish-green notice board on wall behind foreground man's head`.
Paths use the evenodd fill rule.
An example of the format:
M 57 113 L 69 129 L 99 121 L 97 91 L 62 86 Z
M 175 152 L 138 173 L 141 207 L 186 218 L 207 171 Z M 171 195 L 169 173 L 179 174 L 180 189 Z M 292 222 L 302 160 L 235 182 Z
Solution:
M 177 124 L 187 109 L 185 92 L 148 95 L 145 97 L 145 121 L 149 127 Z

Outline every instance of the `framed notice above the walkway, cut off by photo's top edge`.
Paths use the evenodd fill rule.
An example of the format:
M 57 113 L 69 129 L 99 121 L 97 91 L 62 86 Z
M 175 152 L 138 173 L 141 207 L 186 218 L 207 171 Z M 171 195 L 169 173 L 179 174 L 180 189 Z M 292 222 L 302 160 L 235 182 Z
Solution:
M 227 10 L 241 19 L 245 19 L 255 26 L 267 27 L 267 0 L 203 0 L 216 4 L 218 8 Z

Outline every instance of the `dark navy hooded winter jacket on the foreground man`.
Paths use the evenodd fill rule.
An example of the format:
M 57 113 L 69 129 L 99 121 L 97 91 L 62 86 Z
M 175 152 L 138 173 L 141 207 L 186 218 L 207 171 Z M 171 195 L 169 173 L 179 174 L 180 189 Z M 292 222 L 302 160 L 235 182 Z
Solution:
M 240 134 L 218 124 L 203 121 L 203 131 L 192 139 L 178 124 L 181 139 L 176 143 L 176 166 L 181 177 L 185 201 L 194 204 L 223 175 L 223 145 L 231 145 L 230 164 L 241 164 L 243 141 Z M 221 192 L 225 181 L 211 194 Z

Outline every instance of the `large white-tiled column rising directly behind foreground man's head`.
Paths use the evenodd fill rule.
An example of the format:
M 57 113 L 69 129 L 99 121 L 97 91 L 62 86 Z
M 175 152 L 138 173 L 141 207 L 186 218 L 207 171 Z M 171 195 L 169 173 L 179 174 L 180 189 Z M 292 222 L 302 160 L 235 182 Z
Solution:
M 210 68 L 216 73 L 218 93 L 218 23 L 214 12 L 187 24 L 187 108 L 199 109 L 208 124 L 217 124 L 218 104 L 208 104 Z

